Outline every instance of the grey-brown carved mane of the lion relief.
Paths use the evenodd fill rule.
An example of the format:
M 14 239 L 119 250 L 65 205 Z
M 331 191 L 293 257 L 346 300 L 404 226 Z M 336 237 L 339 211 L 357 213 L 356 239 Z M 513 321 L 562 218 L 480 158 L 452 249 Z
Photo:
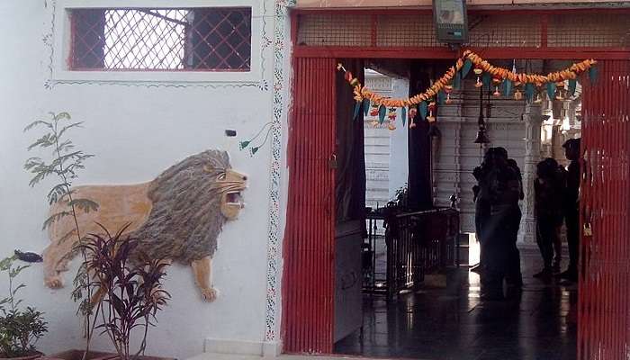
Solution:
M 229 169 L 228 153 L 208 150 L 185 158 L 157 176 L 148 189 L 153 208 L 130 233 L 139 259 L 172 259 L 184 265 L 214 255 L 226 218 L 217 176 Z

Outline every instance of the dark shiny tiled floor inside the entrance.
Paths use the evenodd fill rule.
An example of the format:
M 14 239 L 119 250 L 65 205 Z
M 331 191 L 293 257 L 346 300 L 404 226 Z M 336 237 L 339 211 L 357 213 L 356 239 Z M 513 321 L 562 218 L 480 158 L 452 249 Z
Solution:
M 536 249 L 521 251 L 525 286 L 505 302 L 482 302 L 479 277 L 448 275 L 447 287 L 422 289 L 390 304 L 365 299 L 364 336 L 336 353 L 431 360 L 572 360 L 576 358 L 577 286 L 544 284 Z

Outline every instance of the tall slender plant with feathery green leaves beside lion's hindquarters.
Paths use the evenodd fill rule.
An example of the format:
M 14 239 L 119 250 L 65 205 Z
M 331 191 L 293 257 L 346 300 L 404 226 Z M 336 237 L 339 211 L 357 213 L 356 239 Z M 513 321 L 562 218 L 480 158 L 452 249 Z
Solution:
M 46 198 L 49 204 L 55 202 L 65 202 L 67 206 L 63 211 L 58 211 L 49 216 L 43 222 L 43 229 L 49 228 L 55 221 L 61 220 L 67 216 L 72 217 L 75 224 L 74 233 L 77 238 L 77 248 L 83 256 L 84 262 L 79 268 L 75 279 L 75 289 L 72 292 L 72 298 L 75 302 L 79 302 L 77 314 L 83 316 L 85 320 L 85 338 L 86 349 L 85 354 L 89 351 L 90 339 L 94 332 L 93 309 L 90 306 L 92 297 L 90 289 L 90 279 L 85 268 L 85 251 L 80 247 L 84 238 L 79 227 L 77 218 L 78 211 L 96 211 L 98 204 L 90 199 L 80 198 L 76 196 L 76 192 L 72 189 L 72 184 L 78 178 L 78 172 L 85 169 L 85 160 L 94 157 L 94 155 L 86 154 L 84 151 L 76 148 L 72 139 L 67 138 L 70 130 L 81 127 L 82 121 L 73 122 L 71 116 L 67 112 L 54 113 L 50 112 L 49 121 L 33 121 L 24 131 L 33 129 L 43 129 L 45 132 L 36 139 L 29 147 L 29 151 L 40 149 L 41 151 L 49 151 L 48 158 L 30 157 L 24 164 L 24 169 L 31 172 L 32 177 L 29 185 L 31 187 L 40 184 L 43 180 L 53 177 L 58 184 L 54 184 L 49 190 Z M 68 234 L 68 237 L 73 234 Z M 85 357 L 85 356 L 84 356 Z

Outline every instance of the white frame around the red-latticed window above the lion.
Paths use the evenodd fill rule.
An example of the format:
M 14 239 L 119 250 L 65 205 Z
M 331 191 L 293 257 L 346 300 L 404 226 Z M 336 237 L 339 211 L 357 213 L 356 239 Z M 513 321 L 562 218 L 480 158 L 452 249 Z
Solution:
M 58 82 L 165 82 L 165 83 L 252 83 L 262 78 L 261 1 L 265 0 L 60 0 L 55 14 L 52 80 Z M 68 58 L 72 47 L 70 13 L 89 8 L 251 8 L 251 62 L 248 71 L 151 71 L 151 70 L 71 70 Z

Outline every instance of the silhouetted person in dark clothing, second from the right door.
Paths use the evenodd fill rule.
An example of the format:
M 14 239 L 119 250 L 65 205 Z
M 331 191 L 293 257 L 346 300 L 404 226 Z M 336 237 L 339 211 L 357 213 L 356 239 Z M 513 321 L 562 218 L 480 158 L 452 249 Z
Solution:
M 554 244 L 563 224 L 563 175 L 558 162 L 548 157 L 536 166 L 536 242 L 543 257 L 543 270 L 534 277 L 550 280 L 554 275 Z

